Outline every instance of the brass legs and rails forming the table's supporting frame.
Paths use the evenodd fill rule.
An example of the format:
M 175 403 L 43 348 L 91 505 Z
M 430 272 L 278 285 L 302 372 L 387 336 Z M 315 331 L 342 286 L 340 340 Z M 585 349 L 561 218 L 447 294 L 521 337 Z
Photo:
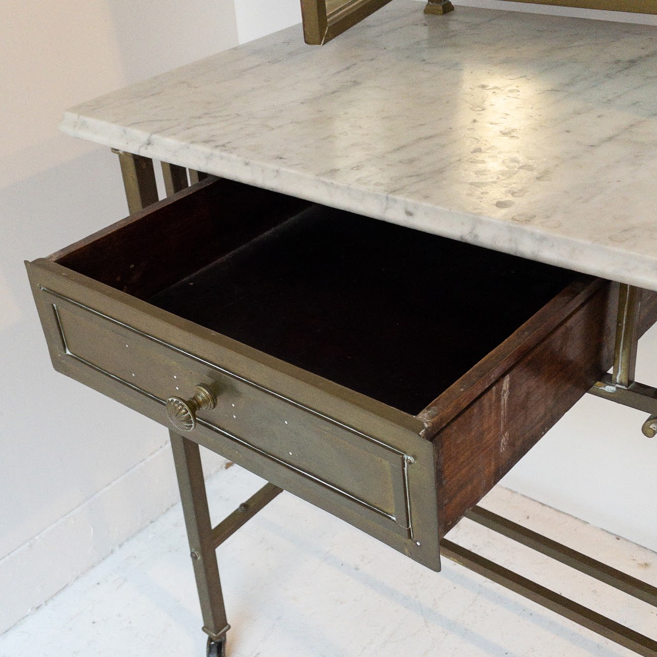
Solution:
M 137 203 L 144 203 L 145 200 L 152 199 L 152 183 L 154 181 L 154 177 L 151 178 L 150 176 L 152 162 L 147 158 L 129 156 L 129 154 L 122 152 L 119 152 L 119 155 L 122 171 L 124 171 L 125 191 L 129 205 L 134 207 Z M 145 173 L 135 175 L 137 170 Z M 125 171 L 128 175 L 125 174 Z M 178 173 L 180 174 L 178 179 L 181 180 L 182 175 L 180 172 Z M 205 175 L 190 171 L 192 181 L 202 179 L 202 177 L 205 177 Z M 155 200 L 157 198 L 151 200 L 151 202 Z M 646 425 L 654 420 L 650 426 L 657 431 L 657 420 L 655 420 L 657 418 L 657 389 L 637 384 L 633 380 L 637 354 L 637 322 L 640 299 L 641 290 L 623 284 L 620 286 L 614 374 L 612 376 L 605 375 L 589 392 L 652 413 L 653 415 L 646 420 L 644 429 Z M 646 433 L 645 430 L 644 432 Z M 224 654 L 226 633 L 230 629 L 230 625 L 227 622 L 221 592 L 215 549 L 277 497 L 282 489 L 273 484 L 266 484 L 213 528 L 210 522 L 199 445 L 175 432 L 170 432 L 170 435 L 189 538 L 190 556 L 193 561 L 203 617 L 203 631 L 210 637 L 210 641 L 217 642 L 220 647 L 219 653 L 214 654 Z M 470 509 L 466 514 L 466 518 L 526 547 L 530 547 L 549 558 L 558 560 L 591 578 L 598 579 L 627 595 L 657 606 L 657 587 L 648 585 L 590 556 L 583 555 L 572 548 L 561 545 L 481 507 Z M 637 654 L 644 657 L 657 657 L 657 641 L 654 639 L 641 635 L 629 629 L 629 627 L 625 627 L 625 625 L 602 616 L 602 614 L 578 602 L 559 595 L 539 583 L 524 578 L 512 572 L 512 570 L 499 566 L 491 560 L 447 539 L 440 541 L 440 552 L 443 556 L 461 564 L 468 570 L 472 570 L 510 591 L 522 595 L 522 597 L 533 600 L 533 602 L 556 614 L 587 627 L 591 631 L 625 648 L 629 648 Z M 208 654 L 210 654 L 210 648 L 208 648 Z

